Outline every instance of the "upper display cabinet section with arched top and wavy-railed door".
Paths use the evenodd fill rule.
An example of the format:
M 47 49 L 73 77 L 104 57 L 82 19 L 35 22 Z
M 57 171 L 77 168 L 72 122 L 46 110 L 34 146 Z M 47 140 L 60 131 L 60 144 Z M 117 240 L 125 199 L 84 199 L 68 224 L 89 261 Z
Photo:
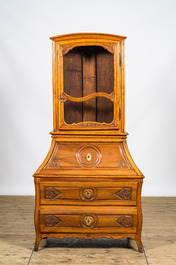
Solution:
M 54 131 L 123 132 L 123 39 L 54 38 Z

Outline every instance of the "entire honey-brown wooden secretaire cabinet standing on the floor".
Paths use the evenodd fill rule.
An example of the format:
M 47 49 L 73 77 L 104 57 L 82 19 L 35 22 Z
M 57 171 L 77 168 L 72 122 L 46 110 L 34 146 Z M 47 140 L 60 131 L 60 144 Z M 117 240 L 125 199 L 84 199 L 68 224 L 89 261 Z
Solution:
M 54 129 L 34 174 L 35 250 L 46 237 L 123 237 L 142 251 L 143 175 L 124 131 L 125 37 L 51 39 Z

